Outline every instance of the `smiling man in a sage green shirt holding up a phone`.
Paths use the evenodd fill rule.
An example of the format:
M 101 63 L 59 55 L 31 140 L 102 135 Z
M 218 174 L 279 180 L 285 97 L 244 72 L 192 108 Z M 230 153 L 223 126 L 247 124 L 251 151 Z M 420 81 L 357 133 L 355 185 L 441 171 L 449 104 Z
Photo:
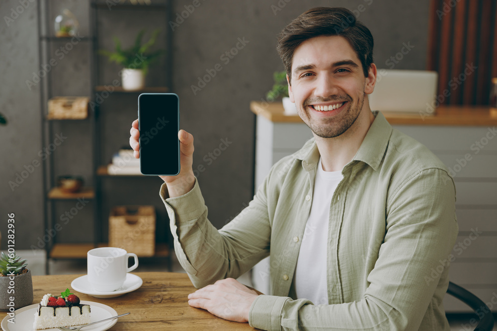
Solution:
M 371 33 L 347 9 L 313 8 L 281 32 L 278 52 L 314 138 L 277 162 L 220 230 L 193 176 L 191 134 L 178 134 L 181 173 L 162 177 L 175 253 L 200 288 L 188 303 L 262 330 L 448 331 L 442 261 L 457 235 L 454 183 L 369 108 Z M 267 256 L 271 295 L 233 279 Z

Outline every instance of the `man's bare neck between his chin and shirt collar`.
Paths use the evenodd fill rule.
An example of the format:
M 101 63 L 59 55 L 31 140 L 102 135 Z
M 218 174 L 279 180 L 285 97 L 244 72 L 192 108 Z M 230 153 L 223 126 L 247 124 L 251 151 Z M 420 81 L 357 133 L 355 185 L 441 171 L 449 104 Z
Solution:
M 314 134 L 321 163 L 325 171 L 340 171 L 359 150 L 375 117 L 369 107 L 364 107 L 354 124 L 341 135 L 322 138 Z

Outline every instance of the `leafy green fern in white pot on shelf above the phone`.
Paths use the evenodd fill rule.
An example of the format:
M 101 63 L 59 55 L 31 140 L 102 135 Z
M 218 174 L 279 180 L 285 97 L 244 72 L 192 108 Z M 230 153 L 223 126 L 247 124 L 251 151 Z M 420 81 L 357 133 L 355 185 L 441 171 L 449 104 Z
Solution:
M 157 29 L 152 33 L 149 41 L 142 45 L 142 38 L 145 30 L 141 30 L 136 36 L 133 46 L 127 49 L 121 49 L 121 42 L 114 37 L 115 50 L 109 52 L 100 50 L 101 55 L 107 56 L 110 62 L 124 66 L 122 70 L 122 87 L 125 90 L 140 90 L 145 86 L 145 76 L 152 61 L 161 55 L 163 50 L 149 52 L 154 46 L 160 30 Z

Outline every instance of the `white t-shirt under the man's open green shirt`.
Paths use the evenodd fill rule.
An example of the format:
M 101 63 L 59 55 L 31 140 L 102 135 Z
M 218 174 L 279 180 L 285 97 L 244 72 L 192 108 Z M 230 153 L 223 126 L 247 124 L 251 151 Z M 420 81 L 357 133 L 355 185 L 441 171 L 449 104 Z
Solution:
M 340 171 L 324 171 L 321 158 L 314 180 L 311 212 L 300 245 L 293 277 L 298 299 L 311 300 L 315 305 L 328 304 L 327 241 L 331 199 L 342 180 Z

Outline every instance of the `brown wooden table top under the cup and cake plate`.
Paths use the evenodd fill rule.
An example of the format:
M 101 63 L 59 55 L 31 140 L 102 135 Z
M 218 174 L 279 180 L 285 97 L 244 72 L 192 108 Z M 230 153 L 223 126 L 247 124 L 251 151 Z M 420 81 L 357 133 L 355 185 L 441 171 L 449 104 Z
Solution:
M 248 323 L 237 323 L 218 318 L 206 310 L 188 305 L 187 296 L 195 291 L 186 273 L 133 272 L 143 279 L 136 291 L 116 298 L 95 298 L 72 291 L 81 300 L 105 304 L 120 317 L 109 330 L 256 330 Z M 58 293 L 71 288 L 73 279 L 82 275 L 33 276 L 34 301 L 38 303 L 46 293 Z M 3 319 L 5 312 L 0 312 Z M 84 330 L 84 329 L 83 329 Z

